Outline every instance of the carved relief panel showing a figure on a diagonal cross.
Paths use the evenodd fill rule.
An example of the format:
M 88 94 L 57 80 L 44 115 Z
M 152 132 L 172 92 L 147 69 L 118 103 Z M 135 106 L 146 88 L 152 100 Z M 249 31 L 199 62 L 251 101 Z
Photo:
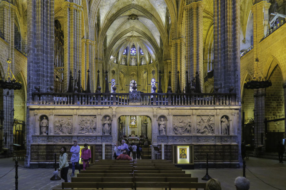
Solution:
M 214 116 L 196 116 L 196 126 L 198 135 L 214 135 L 215 120 Z

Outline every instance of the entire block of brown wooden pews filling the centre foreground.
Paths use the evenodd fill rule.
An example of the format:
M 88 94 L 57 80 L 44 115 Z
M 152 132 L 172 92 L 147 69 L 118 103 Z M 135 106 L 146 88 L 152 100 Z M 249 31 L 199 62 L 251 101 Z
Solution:
M 161 160 L 115 161 L 102 160 L 77 177 L 71 183 L 62 183 L 64 188 L 194 188 L 205 189 L 206 183 L 198 183 L 198 178 L 191 177 L 172 162 Z M 55 189 L 56 190 L 56 189 Z M 89 189 L 90 190 L 90 189 Z

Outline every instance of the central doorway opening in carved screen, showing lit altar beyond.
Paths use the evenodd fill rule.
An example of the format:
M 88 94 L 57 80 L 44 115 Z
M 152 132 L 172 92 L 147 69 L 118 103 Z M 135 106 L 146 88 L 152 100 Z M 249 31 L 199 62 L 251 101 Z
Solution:
M 118 118 L 118 141 L 140 145 L 141 159 L 151 159 L 152 121 L 148 116 L 126 115 Z

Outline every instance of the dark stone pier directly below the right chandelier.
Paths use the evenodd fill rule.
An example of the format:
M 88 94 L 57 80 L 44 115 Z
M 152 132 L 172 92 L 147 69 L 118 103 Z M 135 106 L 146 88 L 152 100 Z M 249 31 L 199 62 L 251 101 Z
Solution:
M 265 89 L 254 90 L 254 154 L 258 154 L 258 146 L 265 145 Z M 263 147 L 262 150 L 265 150 Z

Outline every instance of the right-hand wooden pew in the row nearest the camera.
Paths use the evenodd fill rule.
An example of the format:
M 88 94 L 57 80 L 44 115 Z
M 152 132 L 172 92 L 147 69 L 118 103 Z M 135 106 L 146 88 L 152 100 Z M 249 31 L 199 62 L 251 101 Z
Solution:
M 195 182 L 134 182 L 134 188 L 195 188 L 206 189 L 206 183 Z

